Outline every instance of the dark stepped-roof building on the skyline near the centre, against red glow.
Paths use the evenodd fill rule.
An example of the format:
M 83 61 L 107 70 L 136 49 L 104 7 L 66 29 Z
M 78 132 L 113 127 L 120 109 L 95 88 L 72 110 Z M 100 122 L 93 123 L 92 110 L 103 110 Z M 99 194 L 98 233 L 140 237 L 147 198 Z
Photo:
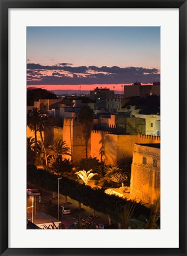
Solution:
M 91 100 L 102 101 L 106 100 L 107 98 L 113 98 L 114 91 L 110 91 L 108 88 L 96 87 L 94 91 L 90 91 L 89 97 Z

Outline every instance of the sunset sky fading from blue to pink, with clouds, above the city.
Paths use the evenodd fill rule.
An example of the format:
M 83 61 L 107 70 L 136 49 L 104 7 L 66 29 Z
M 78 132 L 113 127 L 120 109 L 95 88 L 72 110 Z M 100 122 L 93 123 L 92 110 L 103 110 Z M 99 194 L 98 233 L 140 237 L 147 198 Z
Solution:
M 27 27 L 27 86 L 121 90 L 160 81 L 160 27 Z

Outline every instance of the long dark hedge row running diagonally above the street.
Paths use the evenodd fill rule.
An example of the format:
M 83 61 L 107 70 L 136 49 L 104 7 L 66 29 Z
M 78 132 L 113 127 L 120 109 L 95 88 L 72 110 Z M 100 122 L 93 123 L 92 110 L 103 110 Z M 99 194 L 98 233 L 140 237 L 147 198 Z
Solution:
M 43 169 L 37 169 L 34 165 L 27 165 L 27 181 L 45 190 L 57 191 L 58 177 Z M 126 199 L 105 194 L 103 189 L 93 189 L 66 177 L 59 180 L 59 185 L 59 192 L 64 196 L 69 196 L 71 199 L 105 214 L 121 213 L 127 203 Z M 134 216 L 140 215 L 148 217 L 150 209 L 141 203 L 136 203 Z

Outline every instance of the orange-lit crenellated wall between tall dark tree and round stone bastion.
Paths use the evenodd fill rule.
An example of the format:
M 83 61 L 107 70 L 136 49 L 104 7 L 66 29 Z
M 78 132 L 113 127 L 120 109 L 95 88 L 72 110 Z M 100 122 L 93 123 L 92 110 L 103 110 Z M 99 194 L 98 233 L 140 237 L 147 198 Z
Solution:
M 93 130 L 91 133 L 91 156 L 101 161 L 101 147 L 105 152 L 105 164 L 117 164 L 121 159 L 133 156 L 135 143 L 160 143 L 159 136 L 151 135 L 114 135 Z

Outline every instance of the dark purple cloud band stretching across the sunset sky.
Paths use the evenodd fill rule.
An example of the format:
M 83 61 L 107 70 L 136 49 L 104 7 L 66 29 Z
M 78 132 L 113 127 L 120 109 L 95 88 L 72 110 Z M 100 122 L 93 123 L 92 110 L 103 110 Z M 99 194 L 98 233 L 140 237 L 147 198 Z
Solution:
M 62 66 L 62 64 L 64 64 Z M 154 82 L 160 81 L 158 69 L 148 69 L 142 67 L 120 68 L 118 66 L 78 66 L 72 67 L 61 63 L 53 66 L 43 66 L 35 63 L 27 64 L 27 85 L 36 84 L 124 84 L 134 81 Z M 41 75 L 41 71 L 53 71 L 51 75 Z M 66 72 L 66 73 L 61 73 Z M 31 76 L 32 78 L 31 79 Z M 36 76 L 37 79 L 34 79 Z M 40 76 L 40 81 L 38 81 Z M 35 81 L 36 80 L 36 81 Z

